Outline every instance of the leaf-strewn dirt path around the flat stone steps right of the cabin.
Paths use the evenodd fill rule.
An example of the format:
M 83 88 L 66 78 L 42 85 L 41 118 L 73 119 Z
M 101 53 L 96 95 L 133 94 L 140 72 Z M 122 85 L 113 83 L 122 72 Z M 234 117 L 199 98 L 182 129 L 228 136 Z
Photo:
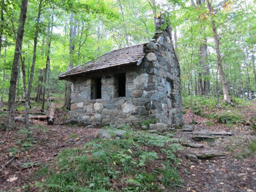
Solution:
M 192 113 L 188 111 L 184 115 L 185 124 L 191 122 L 191 118 Z M 181 187 L 178 191 L 256 191 L 255 153 L 250 157 L 238 158 L 239 154 L 242 155 L 247 150 L 247 139 L 253 137 L 249 126 L 228 127 L 216 122 L 213 122 L 212 126 L 208 126 L 206 122 L 209 119 L 200 116 L 195 116 L 195 119 L 199 124 L 195 125 L 193 131 L 230 131 L 234 135 L 216 138 L 211 142 L 200 142 L 204 145 L 200 149 L 187 147 L 180 155 L 182 158 L 180 173 L 184 180 L 184 188 Z M 199 143 L 191 139 L 193 135 L 180 131 L 176 132 L 175 138 L 184 142 Z M 205 150 L 224 151 L 226 157 L 199 159 L 196 163 L 185 157 L 185 154 L 189 154 L 191 151 Z

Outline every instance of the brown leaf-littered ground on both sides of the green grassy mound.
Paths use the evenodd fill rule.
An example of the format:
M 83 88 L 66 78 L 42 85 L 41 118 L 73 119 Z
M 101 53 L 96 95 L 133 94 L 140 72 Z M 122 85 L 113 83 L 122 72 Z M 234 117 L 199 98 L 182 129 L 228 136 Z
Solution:
M 216 119 L 192 115 L 190 109 L 185 109 L 184 124 L 190 125 L 192 119 L 197 122 L 193 132 L 230 131 L 233 135 L 195 142 L 193 132 L 175 130 L 174 140 L 204 146 L 200 149 L 186 147 L 177 154 L 181 158 L 178 169 L 183 182 L 175 191 L 256 191 L 256 145 L 252 142 L 256 139 L 249 123 L 256 117 L 256 102 L 251 104 L 235 109 L 243 114 L 243 124 L 220 124 Z M 0 115 L 0 123 L 6 123 L 6 114 Z M 0 133 L 0 191 L 35 191 L 37 173 L 43 165 L 55 162 L 63 149 L 84 146 L 100 131 L 61 125 L 67 118 L 66 111 L 57 110 L 58 120 L 53 126 L 33 120 L 29 130 L 22 129 L 22 123 L 17 123 L 17 130 Z M 185 157 L 191 152 L 205 150 L 223 151 L 226 156 L 199 159 L 198 162 Z

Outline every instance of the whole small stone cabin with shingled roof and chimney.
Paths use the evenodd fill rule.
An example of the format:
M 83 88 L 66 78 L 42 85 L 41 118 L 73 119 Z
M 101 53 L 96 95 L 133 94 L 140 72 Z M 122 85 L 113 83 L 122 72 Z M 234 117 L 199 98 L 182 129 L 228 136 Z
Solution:
M 156 19 L 149 43 L 108 52 L 59 76 L 71 81 L 72 121 L 99 125 L 181 125 L 180 66 L 169 26 Z

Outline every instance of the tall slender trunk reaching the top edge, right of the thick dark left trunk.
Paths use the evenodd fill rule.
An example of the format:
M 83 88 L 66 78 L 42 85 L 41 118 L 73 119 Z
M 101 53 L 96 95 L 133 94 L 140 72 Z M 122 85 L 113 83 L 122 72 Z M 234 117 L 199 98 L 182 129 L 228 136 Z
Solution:
M 32 66 L 31 66 L 30 78 L 29 78 L 29 84 L 28 84 L 28 101 L 29 102 L 30 102 L 30 94 L 31 94 L 32 83 L 34 78 L 34 70 L 35 70 L 35 62 L 36 62 L 36 46 L 37 46 L 37 38 L 39 34 L 39 21 L 40 21 L 41 11 L 42 11 L 42 2 L 43 0 L 40 0 L 38 5 L 38 13 L 37 13 L 36 27 L 35 27 L 35 34 L 34 34 L 33 60 L 32 60 Z

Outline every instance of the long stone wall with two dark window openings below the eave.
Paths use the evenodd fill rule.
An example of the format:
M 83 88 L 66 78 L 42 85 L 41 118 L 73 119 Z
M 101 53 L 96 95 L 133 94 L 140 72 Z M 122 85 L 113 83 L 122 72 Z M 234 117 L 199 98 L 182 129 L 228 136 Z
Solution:
M 72 85 L 71 112 L 73 121 L 98 125 L 139 125 L 146 119 L 156 117 L 149 105 L 149 74 L 143 66 L 123 68 L 126 71 L 126 97 L 117 97 L 115 78 L 120 70 L 107 70 L 102 74 L 102 99 L 90 99 L 93 79 L 76 79 Z M 150 105 L 149 105 L 150 106 Z

